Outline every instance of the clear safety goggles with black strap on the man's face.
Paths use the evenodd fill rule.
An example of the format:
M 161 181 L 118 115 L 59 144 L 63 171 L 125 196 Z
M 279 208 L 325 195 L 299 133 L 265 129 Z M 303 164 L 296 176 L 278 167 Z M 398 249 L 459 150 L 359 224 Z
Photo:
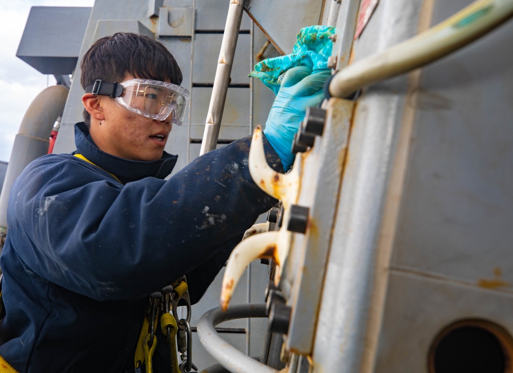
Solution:
M 121 107 L 157 121 L 164 121 L 172 113 L 172 122 L 181 126 L 189 91 L 172 83 L 148 79 L 130 79 L 122 83 L 96 80 L 85 91 L 114 97 Z

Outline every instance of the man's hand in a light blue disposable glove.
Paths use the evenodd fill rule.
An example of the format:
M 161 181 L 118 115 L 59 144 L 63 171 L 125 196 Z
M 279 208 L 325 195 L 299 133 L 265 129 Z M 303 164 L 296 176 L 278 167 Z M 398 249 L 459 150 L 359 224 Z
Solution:
M 331 70 L 319 70 L 297 66 L 289 69 L 282 80 L 280 90 L 272 103 L 264 133 L 280 156 L 285 171 L 294 163 L 292 141 L 305 117 L 306 108 L 317 106 L 324 99 L 322 90 Z

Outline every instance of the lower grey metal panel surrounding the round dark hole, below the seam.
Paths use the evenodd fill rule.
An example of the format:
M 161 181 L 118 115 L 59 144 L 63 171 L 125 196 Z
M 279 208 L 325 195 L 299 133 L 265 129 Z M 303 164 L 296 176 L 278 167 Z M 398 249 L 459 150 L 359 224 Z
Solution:
M 494 321 L 513 333 L 507 293 L 395 271 L 388 288 L 376 373 L 427 373 L 435 337 L 462 318 Z

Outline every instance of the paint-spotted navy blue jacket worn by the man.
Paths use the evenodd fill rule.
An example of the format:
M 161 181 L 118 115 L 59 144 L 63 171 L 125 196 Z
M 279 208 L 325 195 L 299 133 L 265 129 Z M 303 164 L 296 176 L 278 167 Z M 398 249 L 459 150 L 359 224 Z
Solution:
M 264 143 L 269 164 L 281 169 Z M 167 181 L 174 155 L 117 158 L 95 146 L 83 123 L 75 144 L 98 167 L 44 155 L 10 193 L 0 356 L 20 372 L 124 371 L 148 295 L 187 274 L 199 300 L 244 231 L 277 202 L 251 179 L 250 138 Z

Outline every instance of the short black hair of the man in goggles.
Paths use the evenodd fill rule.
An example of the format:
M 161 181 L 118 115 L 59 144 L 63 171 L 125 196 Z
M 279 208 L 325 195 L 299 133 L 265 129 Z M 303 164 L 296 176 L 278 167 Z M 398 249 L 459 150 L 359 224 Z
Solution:
M 173 55 L 164 44 L 133 32 L 117 32 L 98 39 L 82 57 L 82 88 L 95 80 L 121 83 L 127 73 L 158 81 L 182 84 L 183 75 Z M 84 110 L 89 127 L 91 115 Z

